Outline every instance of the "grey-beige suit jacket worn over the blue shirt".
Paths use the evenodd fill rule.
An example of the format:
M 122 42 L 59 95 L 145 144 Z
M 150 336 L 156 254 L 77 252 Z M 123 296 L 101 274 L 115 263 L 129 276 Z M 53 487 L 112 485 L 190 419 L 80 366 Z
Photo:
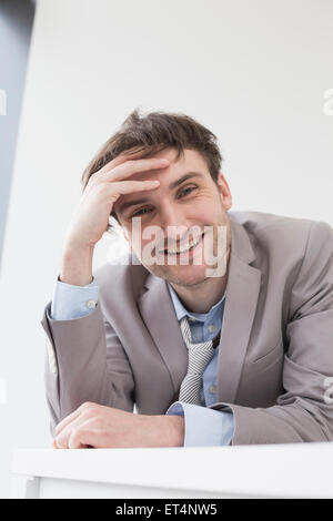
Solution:
M 232 445 L 333 441 L 333 231 L 323 222 L 229 212 L 231 254 L 216 402 L 235 419 Z M 130 257 L 132 258 L 132 257 Z M 51 432 L 92 401 L 163 415 L 188 354 L 165 280 L 142 265 L 94 273 L 87 317 L 42 318 Z

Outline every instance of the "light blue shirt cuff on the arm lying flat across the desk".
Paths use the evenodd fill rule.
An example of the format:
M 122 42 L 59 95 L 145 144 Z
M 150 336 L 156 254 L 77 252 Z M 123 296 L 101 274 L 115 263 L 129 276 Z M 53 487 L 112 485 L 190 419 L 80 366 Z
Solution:
M 165 415 L 183 416 L 185 422 L 184 447 L 230 445 L 234 435 L 233 412 L 175 401 Z

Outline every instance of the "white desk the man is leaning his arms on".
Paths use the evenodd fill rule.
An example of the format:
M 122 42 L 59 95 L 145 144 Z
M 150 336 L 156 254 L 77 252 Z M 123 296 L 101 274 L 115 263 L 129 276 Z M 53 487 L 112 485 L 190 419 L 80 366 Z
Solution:
M 19 449 L 12 498 L 333 498 L 333 442 Z

